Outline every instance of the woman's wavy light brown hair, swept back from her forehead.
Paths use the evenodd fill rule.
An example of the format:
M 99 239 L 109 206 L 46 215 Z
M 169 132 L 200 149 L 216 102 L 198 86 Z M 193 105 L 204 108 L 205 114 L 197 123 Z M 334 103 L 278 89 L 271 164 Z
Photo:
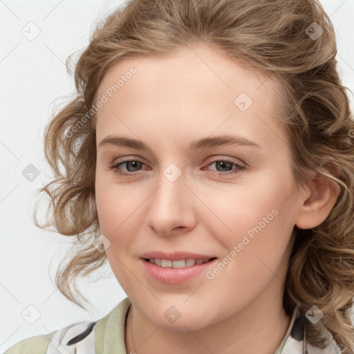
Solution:
M 318 38 L 310 36 L 313 23 L 317 33 L 323 31 Z M 348 88 L 337 72 L 333 24 L 317 0 L 131 0 L 96 24 L 75 64 L 75 96 L 53 113 L 44 132 L 54 177 L 39 190 L 50 197 L 48 222 L 39 225 L 36 205 L 35 223 L 55 225 L 78 246 L 57 270 L 60 292 L 83 307 L 75 296 L 87 300 L 75 279 L 106 261 L 106 253 L 95 247 L 101 234 L 95 205 L 95 95 L 102 78 L 123 59 L 168 55 L 198 44 L 277 78 L 297 185 L 306 183 L 306 169 L 312 169 L 339 187 L 323 223 L 308 230 L 295 226 L 283 308 L 291 315 L 295 306 L 303 314 L 317 306 L 323 317 L 317 325 L 306 323 L 308 341 L 324 348 L 324 326 L 342 353 L 353 353 L 354 120 Z

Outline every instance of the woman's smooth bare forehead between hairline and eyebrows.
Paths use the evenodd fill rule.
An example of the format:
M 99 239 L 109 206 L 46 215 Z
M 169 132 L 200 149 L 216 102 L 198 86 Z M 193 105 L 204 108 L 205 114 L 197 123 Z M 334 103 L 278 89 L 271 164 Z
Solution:
M 241 129 L 274 139 L 284 135 L 276 122 L 282 112 L 274 76 L 205 46 L 124 59 L 109 68 L 97 91 L 97 100 L 108 98 L 97 111 L 97 135 L 103 138 L 114 127 L 127 131 L 129 122 L 136 133 L 153 127 L 195 137 L 198 131 L 205 136 Z

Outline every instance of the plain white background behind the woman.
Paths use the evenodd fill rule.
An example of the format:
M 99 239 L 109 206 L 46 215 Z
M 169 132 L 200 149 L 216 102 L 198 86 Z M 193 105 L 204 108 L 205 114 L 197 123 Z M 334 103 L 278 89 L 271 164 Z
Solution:
M 35 191 L 47 183 L 50 173 L 43 129 L 53 102 L 74 89 L 66 57 L 84 48 L 95 21 L 122 2 L 0 0 L 0 352 L 26 337 L 100 319 L 126 296 L 106 265 L 100 270 L 102 279 L 86 279 L 80 287 L 93 303 L 88 312 L 66 300 L 56 290 L 54 277 L 71 247 L 70 238 L 32 222 Z M 353 90 L 354 0 L 321 3 L 337 33 L 339 73 L 344 86 Z M 30 21 L 40 30 L 32 41 L 21 32 Z M 40 171 L 32 182 L 22 175 L 29 164 Z M 30 305 L 40 313 L 34 324 L 21 317 Z M 30 313 L 36 311 L 30 308 Z

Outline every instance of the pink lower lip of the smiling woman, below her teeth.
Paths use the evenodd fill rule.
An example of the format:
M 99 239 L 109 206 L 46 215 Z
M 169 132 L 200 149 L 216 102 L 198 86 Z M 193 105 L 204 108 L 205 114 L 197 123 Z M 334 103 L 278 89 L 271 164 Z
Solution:
M 190 265 L 185 268 L 164 268 L 150 263 L 149 261 L 145 261 L 145 259 L 140 259 L 140 261 L 142 261 L 145 271 L 152 279 L 165 284 L 178 284 L 206 272 L 207 268 L 214 265 L 217 259 L 213 259 L 212 261 L 203 264 Z

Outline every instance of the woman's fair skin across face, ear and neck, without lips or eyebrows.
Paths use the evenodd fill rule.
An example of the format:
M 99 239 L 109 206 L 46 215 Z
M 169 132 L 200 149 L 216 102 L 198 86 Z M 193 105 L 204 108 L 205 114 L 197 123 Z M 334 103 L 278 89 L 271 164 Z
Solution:
M 290 322 L 282 297 L 294 227 L 322 223 L 339 191 L 311 171 L 304 189 L 295 184 L 290 142 L 279 123 L 277 82 L 269 73 L 194 46 L 111 66 L 96 98 L 132 66 L 137 73 L 97 112 L 95 175 L 106 255 L 132 303 L 127 353 L 272 354 Z M 246 111 L 234 104 L 242 92 L 253 100 Z M 260 148 L 186 150 L 194 140 L 224 134 Z M 150 150 L 99 146 L 112 135 L 142 140 Z M 245 168 L 213 163 L 225 158 Z M 120 165 L 131 174 L 120 176 L 111 167 L 123 160 L 142 164 Z M 181 171 L 174 182 L 163 174 L 171 163 Z M 153 250 L 222 260 L 272 209 L 277 216 L 212 280 L 202 273 L 167 285 L 140 264 L 141 254 Z M 164 316 L 170 306 L 180 313 L 174 323 Z

